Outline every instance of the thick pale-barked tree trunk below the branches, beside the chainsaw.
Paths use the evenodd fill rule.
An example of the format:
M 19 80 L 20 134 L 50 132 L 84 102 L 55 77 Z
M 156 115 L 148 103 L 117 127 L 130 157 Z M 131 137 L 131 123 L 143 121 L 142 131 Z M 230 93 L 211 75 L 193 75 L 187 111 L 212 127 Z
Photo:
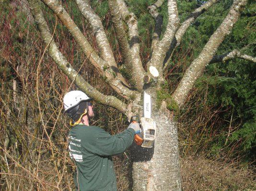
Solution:
M 177 124 L 165 112 L 152 117 L 156 139 L 152 149 L 133 145 L 134 191 L 181 191 Z

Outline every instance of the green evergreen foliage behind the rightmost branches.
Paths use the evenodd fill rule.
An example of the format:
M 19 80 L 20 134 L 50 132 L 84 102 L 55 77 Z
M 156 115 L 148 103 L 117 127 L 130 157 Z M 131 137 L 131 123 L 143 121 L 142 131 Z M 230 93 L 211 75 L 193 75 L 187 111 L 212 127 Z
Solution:
M 223 21 L 231 4 L 231 0 L 220 1 L 202 14 L 186 32 L 181 46 L 185 46 L 185 50 L 189 49 L 189 46 L 193 46 L 194 57 L 196 57 L 210 35 Z M 237 49 L 241 50 L 241 53 L 256 56 L 255 12 L 256 3 L 250 0 L 233 31 L 222 42 L 216 54 L 228 53 Z M 195 39 L 195 42 L 191 42 L 191 39 Z M 179 57 L 180 55 L 176 59 Z M 176 60 L 176 62 L 179 61 Z M 184 62 L 186 65 L 190 64 L 190 60 Z M 225 63 L 208 65 L 205 73 L 198 80 L 196 85 L 198 91 L 205 92 L 209 85 L 207 87 L 207 106 L 228 111 L 219 114 L 223 120 L 220 127 L 221 136 L 213 140 L 212 148 L 209 148 L 212 151 L 211 154 L 216 155 L 220 150 L 228 150 L 237 145 L 233 151 L 233 157 L 236 157 L 238 152 L 241 156 L 245 155 L 245 159 L 255 159 L 255 152 L 253 152 L 256 144 L 255 74 L 256 65 L 254 63 L 235 58 Z M 232 115 L 231 135 L 226 142 Z

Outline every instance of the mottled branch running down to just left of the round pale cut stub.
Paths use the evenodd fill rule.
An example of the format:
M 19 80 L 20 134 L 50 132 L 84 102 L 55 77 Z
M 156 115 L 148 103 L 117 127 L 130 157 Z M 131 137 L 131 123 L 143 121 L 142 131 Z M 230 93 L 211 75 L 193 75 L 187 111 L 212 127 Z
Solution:
M 123 21 L 125 21 L 128 25 L 128 34 L 129 34 L 129 46 L 130 46 L 130 53 L 132 58 L 133 68 L 137 70 L 138 75 L 135 77 L 136 83 L 141 83 L 137 85 L 141 87 L 143 83 L 143 77 L 145 74 L 144 68 L 142 67 L 141 59 L 140 59 L 140 44 L 139 44 L 139 32 L 138 32 L 138 21 L 136 16 L 128 11 L 128 8 L 124 2 L 124 0 L 116 0 L 119 11 L 121 13 L 121 17 Z

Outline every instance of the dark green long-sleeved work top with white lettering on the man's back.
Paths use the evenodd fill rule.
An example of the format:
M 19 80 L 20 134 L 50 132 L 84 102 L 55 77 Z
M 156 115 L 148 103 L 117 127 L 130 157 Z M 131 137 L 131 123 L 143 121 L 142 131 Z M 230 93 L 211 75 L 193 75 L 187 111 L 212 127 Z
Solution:
M 69 132 L 70 157 L 76 162 L 74 182 L 78 191 L 116 191 L 111 156 L 123 153 L 133 142 L 129 128 L 111 136 L 95 126 L 77 125 Z

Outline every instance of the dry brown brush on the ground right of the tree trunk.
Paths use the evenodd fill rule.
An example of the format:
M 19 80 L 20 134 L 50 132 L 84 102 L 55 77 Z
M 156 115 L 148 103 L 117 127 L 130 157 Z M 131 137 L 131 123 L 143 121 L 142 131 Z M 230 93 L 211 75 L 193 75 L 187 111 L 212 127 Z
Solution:
M 237 162 L 209 160 L 203 157 L 181 160 L 184 191 L 253 191 L 253 170 Z

